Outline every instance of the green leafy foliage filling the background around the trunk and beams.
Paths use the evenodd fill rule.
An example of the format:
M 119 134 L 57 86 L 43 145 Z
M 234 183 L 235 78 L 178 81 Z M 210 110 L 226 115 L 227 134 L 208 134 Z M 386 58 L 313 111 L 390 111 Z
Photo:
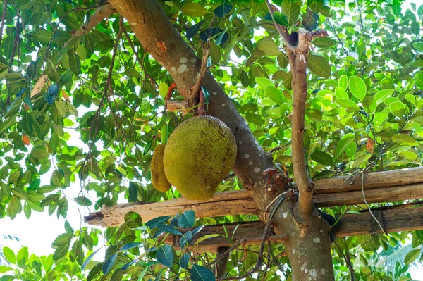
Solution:
M 325 29 L 330 35 L 315 39 L 309 56 L 312 75 L 305 133 L 309 173 L 318 179 L 355 170 L 420 166 L 423 6 L 412 4 L 405 10 L 400 0 L 323 2 L 274 1 L 281 11 L 275 14 L 279 24 L 295 31 L 300 20 L 301 27 Z M 267 151 L 281 146 L 274 161 L 292 172 L 291 75 L 266 4 L 219 0 L 161 4 L 199 56 L 200 42 L 212 38 L 210 71 L 259 144 Z M 89 7 L 95 6 L 94 0 L 20 0 L 9 1 L 6 11 L 0 8 L 0 15 L 5 15 L 5 31 L 0 31 L 0 217 L 23 213 L 30 218 L 32 211 L 47 210 L 66 218 L 69 204 L 97 210 L 123 198 L 160 201 L 180 196 L 176 190 L 157 192 L 149 181 L 152 149 L 164 134 L 161 128 L 168 123 L 171 132 L 183 120 L 163 114 L 171 76 L 148 56 L 128 23 L 121 26 L 118 15 L 73 37 L 90 20 L 94 8 Z M 42 74 L 47 75 L 47 84 L 33 92 Z M 80 196 L 68 198 L 65 189 L 80 188 L 79 183 Z M 238 182 L 228 180 L 219 191 L 234 188 L 239 188 Z M 183 278 L 188 272 L 192 280 L 212 280 L 204 266 L 214 255 L 200 255 L 192 263 L 188 251 L 175 251 L 156 239 L 159 234 L 182 232 L 185 240 L 180 246 L 186 249 L 195 232 L 185 230 L 192 226 L 192 214 L 171 223 L 166 223 L 168 219 L 142 223 L 128 214 L 121 227 L 104 231 L 109 247 L 102 263 L 94 263 L 90 256 L 100 233 L 87 227 L 74 231 L 66 225 L 48 257 L 29 256 L 26 248 L 15 254 L 4 247 L 11 265 L 0 267 L 0 273 L 8 274 L 0 280 L 13 280 L 13 275 L 20 280 L 84 280 L 82 265 L 90 269 L 87 280 L 102 275 L 111 280 L 159 280 Z M 209 218 L 196 225 L 243 220 L 251 218 Z M 414 250 L 407 253 L 405 263 L 378 266 L 393 247 L 410 239 Z M 409 264 L 421 259 L 422 242 L 421 231 L 337 239 L 333 246 L 337 280 L 348 280 L 345 259 L 360 280 L 407 280 Z M 274 246 L 266 270 L 256 277 L 274 280 L 276 272 L 288 276 L 289 263 L 279 255 L 282 251 L 283 246 Z M 255 252 L 257 246 L 248 247 L 246 254 L 233 251 L 228 276 L 252 268 Z

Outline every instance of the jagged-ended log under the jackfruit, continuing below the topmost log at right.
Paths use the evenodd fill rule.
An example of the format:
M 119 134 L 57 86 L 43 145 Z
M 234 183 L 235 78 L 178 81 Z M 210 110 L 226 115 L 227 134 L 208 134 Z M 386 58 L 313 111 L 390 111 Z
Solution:
M 423 198 L 423 184 L 403 185 L 398 187 L 380 187 L 365 189 L 368 203 L 403 201 Z M 339 192 L 314 194 L 314 204 L 318 207 L 344 206 L 364 203 L 362 192 Z M 197 218 L 211 218 L 228 215 L 258 215 L 259 210 L 252 194 L 246 190 L 219 192 L 208 201 L 193 201 L 183 197 L 151 204 L 142 202 L 104 206 L 101 212 L 85 216 L 89 225 L 114 227 L 124 223 L 125 213 L 133 211 L 139 213 L 142 220 L 147 222 L 159 216 L 175 216 L 177 213 L 194 210 Z

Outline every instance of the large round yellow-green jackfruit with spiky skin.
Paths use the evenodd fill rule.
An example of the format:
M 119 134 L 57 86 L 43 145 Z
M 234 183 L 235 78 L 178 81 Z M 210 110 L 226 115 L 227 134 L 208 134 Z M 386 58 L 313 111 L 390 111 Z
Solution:
M 186 199 L 207 200 L 231 171 L 236 142 L 231 129 L 212 116 L 185 120 L 164 149 L 164 173 Z

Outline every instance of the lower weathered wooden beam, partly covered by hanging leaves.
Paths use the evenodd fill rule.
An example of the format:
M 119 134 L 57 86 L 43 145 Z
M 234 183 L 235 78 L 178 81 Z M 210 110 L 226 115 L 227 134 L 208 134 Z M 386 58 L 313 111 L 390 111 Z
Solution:
M 391 209 L 376 208 L 373 209 L 372 212 L 386 232 L 423 229 L 423 206 L 415 206 L 414 208 L 398 208 L 398 206 L 394 206 Z M 341 225 L 332 230 L 332 233 L 338 237 L 382 233 L 378 223 L 372 218 L 368 210 L 360 213 L 346 213 L 340 221 Z M 225 224 L 225 228 L 229 238 L 231 239 L 231 237 L 233 237 L 233 244 L 240 242 L 242 239 L 245 239 L 245 243 L 243 243 L 242 246 L 257 245 L 262 242 L 264 224 L 260 221 L 228 223 Z M 196 244 L 198 238 L 211 234 L 223 236 L 213 237 Z M 268 240 L 271 243 L 278 243 L 283 242 L 284 239 L 274 235 L 270 236 Z M 171 244 L 178 249 L 178 241 L 178 235 L 168 235 L 164 243 Z M 223 225 L 209 225 L 205 226 L 192 239 L 192 246 L 190 246 L 190 249 L 200 254 L 206 252 L 216 253 L 218 248 L 231 247 L 233 244 L 225 237 Z

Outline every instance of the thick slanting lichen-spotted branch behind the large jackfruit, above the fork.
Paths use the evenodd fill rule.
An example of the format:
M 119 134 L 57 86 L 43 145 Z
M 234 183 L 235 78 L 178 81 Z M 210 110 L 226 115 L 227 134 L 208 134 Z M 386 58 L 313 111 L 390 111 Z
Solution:
M 200 75 L 201 61 L 173 27 L 160 4 L 155 0 L 111 0 L 110 3 L 128 20 L 142 46 L 168 70 L 178 85 L 179 94 L 188 100 L 190 89 Z M 271 156 L 259 146 L 245 120 L 209 71 L 204 74 L 202 85 L 210 93 L 207 114 L 226 123 L 237 139 L 235 174 L 245 187 L 253 190 L 257 204 L 264 209 L 275 197 L 265 191 L 266 176 L 261 174 L 262 170 L 273 168 Z

